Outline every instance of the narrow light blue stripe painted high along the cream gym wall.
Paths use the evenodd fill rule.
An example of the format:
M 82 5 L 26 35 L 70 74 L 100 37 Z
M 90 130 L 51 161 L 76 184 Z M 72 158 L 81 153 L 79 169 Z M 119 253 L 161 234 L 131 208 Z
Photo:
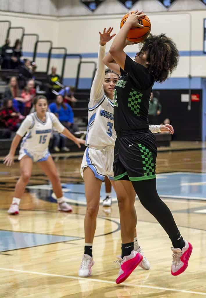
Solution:
M 190 56 L 190 51 L 180 51 L 180 56 L 181 57 L 188 57 Z M 68 53 L 71 54 L 71 53 Z M 98 53 L 94 52 L 94 53 L 72 53 L 72 55 L 82 55 L 82 58 L 97 58 Z M 23 52 L 23 55 L 26 57 L 33 57 L 33 52 Z M 131 57 L 135 57 L 136 52 L 127 52 L 127 55 L 131 56 Z M 206 53 L 204 53 L 203 51 L 191 51 L 191 56 L 206 56 Z M 43 52 L 39 52 L 36 55 L 37 58 L 47 58 L 48 57 L 48 53 L 43 53 Z M 63 54 L 61 53 L 57 53 L 57 54 L 51 54 L 51 58 L 54 59 L 62 59 L 63 58 Z M 78 57 L 67 57 L 67 59 L 77 59 Z

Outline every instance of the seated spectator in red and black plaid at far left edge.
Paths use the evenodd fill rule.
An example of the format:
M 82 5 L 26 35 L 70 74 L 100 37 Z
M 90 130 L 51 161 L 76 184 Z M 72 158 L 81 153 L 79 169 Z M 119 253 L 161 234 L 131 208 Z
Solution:
M 20 125 L 20 114 L 13 108 L 12 99 L 4 98 L 3 107 L 0 110 L 0 122 L 10 131 L 17 131 Z

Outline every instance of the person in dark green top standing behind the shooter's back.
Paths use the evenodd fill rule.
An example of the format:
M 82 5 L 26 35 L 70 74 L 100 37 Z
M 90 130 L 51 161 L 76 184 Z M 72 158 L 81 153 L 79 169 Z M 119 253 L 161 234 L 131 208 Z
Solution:
M 157 95 L 156 95 L 157 94 Z M 160 93 L 156 91 L 156 96 L 160 97 Z M 149 124 L 156 125 L 159 123 L 158 116 L 162 111 L 162 105 L 160 104 L 157 97 L 154 97 L 154 93 L 152 91 L 149 103 Z

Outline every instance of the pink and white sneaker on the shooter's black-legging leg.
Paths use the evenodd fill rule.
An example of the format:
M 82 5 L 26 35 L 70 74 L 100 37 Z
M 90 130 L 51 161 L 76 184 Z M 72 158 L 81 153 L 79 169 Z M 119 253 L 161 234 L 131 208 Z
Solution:
M 185 241 L 185 246 L 182 248 L 173 248 L 171 250 L 172 254 L 172 266 L 171 266 L 171 274 L 179 275 L 187 269 L 188 260 L 192 253 L 192 244 Z

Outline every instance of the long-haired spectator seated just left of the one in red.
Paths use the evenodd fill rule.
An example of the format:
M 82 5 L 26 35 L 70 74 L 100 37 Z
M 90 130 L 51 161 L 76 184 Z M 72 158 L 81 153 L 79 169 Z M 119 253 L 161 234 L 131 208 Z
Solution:
M 23 98 L 20 97 L 20 95 L 21 95 L 21 92 L 18 88 L 17 78 L 11 77 L 9 81 L 9 85 L 4 91 L 4 97 L 12 98 L 13 107 L 21 114 L 24 114 L 24 103 L 22 102 Z

